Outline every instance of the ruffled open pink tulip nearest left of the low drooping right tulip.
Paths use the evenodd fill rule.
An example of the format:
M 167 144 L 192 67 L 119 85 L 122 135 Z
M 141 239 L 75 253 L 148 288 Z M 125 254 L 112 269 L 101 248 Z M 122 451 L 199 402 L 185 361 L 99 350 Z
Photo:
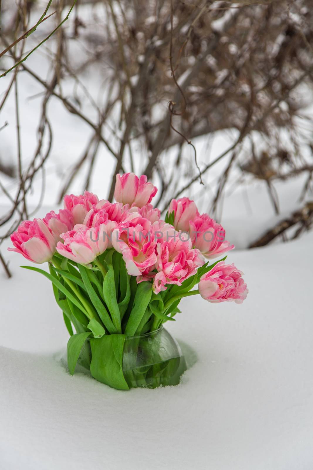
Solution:
M 158 273 L 153 280 L 153 291 L 166 290 L 166 284 L 182 285 L 185 279 L 196 274 L 197 267 L 204 264 L 200 251 L 192 249 L 190 238 L 176 232 L 174 238 L 157 244 Z

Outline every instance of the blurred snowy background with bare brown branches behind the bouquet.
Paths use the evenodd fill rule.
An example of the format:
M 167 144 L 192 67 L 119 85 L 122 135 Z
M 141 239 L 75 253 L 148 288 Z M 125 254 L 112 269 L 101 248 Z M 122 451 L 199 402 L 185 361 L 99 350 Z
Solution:
M 117 172 L 146 174 L 162 211 L 194 199 L 239 249 L 310 229 L 311 0 L 0 0 L 0 13 L 7 275 L 21 220 L 66 193 L 112 200 Z

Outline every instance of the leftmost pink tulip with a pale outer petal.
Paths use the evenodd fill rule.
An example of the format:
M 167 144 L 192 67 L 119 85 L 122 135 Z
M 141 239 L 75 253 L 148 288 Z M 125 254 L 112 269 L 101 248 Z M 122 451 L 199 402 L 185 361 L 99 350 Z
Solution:
M 55 236 L 41 219 L 24 220 L 11 235 L 11 241 L 15 248 L 8 248 L 9 251 L 21 253 L 34 263 L 50 261 L 55 252 Z

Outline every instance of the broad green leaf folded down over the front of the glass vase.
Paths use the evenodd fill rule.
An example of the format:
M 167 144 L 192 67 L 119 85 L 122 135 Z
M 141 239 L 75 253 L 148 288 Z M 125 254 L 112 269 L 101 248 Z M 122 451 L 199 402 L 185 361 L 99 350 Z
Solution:
M 92 376 L 99 382 L 118 390 L 129 390 L 122 371 L 125 338 L 125 335 L 114 334 L 90 340 Z

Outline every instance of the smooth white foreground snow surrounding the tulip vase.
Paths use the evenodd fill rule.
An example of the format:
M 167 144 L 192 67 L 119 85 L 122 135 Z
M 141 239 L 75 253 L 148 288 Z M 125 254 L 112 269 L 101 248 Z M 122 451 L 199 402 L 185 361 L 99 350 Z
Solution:
M 69 373 L 50 283 L 0 272 L 0 468 L 3 470 L 311 470 L 312 241 L 228 261 L 242 269 L 242 305 L 182 301 L 168 325 L 198 361 L 176 387 L 116 391 Z

